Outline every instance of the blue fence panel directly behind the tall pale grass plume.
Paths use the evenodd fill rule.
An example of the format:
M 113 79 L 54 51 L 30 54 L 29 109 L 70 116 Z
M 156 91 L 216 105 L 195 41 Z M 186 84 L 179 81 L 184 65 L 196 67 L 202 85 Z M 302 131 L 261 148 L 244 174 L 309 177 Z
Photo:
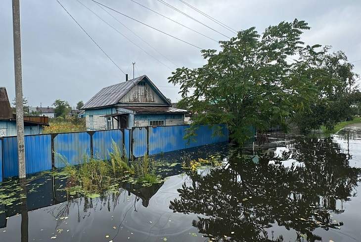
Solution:
M 101 160 L 110 160 L 112 140 L 117 143 L 123 154 L 123 132 L 121 130 L 96 131 L 93 134 L 93 156 Z

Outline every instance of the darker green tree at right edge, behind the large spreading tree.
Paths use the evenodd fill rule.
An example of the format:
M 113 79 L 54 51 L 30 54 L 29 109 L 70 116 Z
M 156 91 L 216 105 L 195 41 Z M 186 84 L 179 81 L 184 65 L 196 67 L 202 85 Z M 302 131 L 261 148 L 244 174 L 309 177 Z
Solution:
M 322 55 L 309 60 L 311 65 L 304 68 L 304 72 L 312 73 L 310 82 L 317 92 L 312 102 L 292 117 L 303 133 L 319 129 L 321 125 L 332 130 L 338 122 L 352 119 L 351 105 L 361 101 L 357 87 L 352 88 L 359 77 L 353 71 L 354 66 L 347 62 L 344 52 L 328 53 L 330 48 L 324 47 Z

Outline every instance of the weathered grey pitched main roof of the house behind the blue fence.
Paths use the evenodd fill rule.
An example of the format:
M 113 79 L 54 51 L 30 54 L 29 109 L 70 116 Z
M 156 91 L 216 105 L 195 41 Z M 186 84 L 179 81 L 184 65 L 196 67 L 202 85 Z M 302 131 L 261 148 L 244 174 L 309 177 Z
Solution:
M 150 85 L 154 87 L 154 89 L 159 93 L 160 97 L 162 97 L 164 101 L 168 103 L 167 98 L 159 91 L 159 89 L 154 85 L 154 83 L 146 75 L 142 75 L 125 82 L 104 87 L 97 94 L 95 94 L 95 96 L 92 97 L 86 104 L 84 104 L 81 109 L 115 105 L 119 103 L 119 100 L 121 100 L 132 89 L 132 87 L 134 87 L 139 81 L 143 80 L 144 78 L 146 78 Z

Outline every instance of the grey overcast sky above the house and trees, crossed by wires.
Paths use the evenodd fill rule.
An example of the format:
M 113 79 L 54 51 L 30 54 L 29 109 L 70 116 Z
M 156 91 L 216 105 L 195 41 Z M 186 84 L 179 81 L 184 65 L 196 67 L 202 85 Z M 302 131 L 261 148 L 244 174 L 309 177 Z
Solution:
M 171 69 L 181 66 L 194 68 L 204 63 L 197 48 L 112 12 L 119 21 L 177 64 L 175 66 L 116 22 L 97 4 L 91 0 L 80 1 Z M 182 28 L 131 0 L 98 1 L 201 48 L 218 48 L 218 43 Z M 157 0 L 136 1 L 214 39 L 225 39 Z M 165 1 L 223 34 L 233 36 L 231 32 L 197 14 L 179 0 Z M 303 0 L 297 3 L 289 0 L 186 1 L 236 30 L 255 26 L 262 33 L 266 27 L 280 21 L 292 21 L 294 18 L 305 20 L 312 27 L 311 31 L 304 34 L 306 43 L 332 45 L 333 50 L 345 51 L 350 61 L 361 59 L 359 0 Z M 135 62 L 135 76 L 148 75 L 173 102 L 180 98 L 179 89 L 171 87 L 167 81 L 171 69 L 138 49 L 77 0 L 61 2 L 121 69 L 133 77 L 132 62 Z M 48 106 L 55 99 L 63 99 L 74 106 L 80 100 L 87 102 L 102 87 L 124 81 L 124 74 L 91 42 L 56 0 L 20 0 L 20 3 L 23 88 L 30 105 L 40 106 L 42 103 L 43 106 Z M 356 71 L 361 73 L 361 61 L 354 64 Z M 15 88 L 11 0 L 0 1 L 0 86 L 7 88 L 12 100 Z

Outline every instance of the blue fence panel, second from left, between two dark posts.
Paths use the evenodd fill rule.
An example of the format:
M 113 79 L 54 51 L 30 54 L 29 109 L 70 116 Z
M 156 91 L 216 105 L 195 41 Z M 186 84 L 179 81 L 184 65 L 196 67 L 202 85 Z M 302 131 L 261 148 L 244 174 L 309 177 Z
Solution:
M 53 142 L 56 168 L 65 167 L 64 159 L 70 165 L 80 165 L 84 156 L 90 157 L 90 135 L 87 132 L 57 134 Z

